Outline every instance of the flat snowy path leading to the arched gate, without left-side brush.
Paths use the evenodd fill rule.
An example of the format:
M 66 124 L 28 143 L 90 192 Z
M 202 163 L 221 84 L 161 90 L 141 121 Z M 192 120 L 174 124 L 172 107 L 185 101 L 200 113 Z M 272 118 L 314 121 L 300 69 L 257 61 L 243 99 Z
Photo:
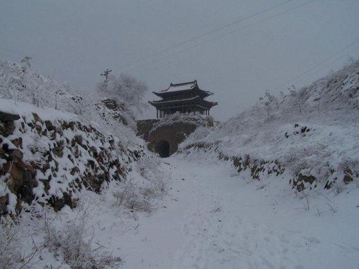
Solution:
M 118 239 L 123 268 L 358 268 L 357 190 L 338 198 L 337 213 L 321 200 L 306 211 L 274 191 L 288 183 L 248 183 L 214 160 L 165 162 L 173 182 L 164 208 Z

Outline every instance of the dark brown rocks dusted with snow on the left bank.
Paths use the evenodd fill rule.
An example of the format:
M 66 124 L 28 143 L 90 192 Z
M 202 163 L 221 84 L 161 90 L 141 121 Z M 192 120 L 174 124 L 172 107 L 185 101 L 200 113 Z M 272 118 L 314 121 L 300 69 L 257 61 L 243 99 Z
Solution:
M 81 189 L 99 192 L 123 180 L 143 155 L 71 116 L 42 118 L 0 112 L 0 215 L 18 214 L 23 202 L 76 207 Z

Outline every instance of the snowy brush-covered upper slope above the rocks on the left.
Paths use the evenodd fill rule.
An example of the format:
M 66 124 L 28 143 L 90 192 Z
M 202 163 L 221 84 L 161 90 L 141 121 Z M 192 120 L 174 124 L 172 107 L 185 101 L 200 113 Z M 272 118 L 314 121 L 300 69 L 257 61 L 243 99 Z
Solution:
M 71 89 L 24 64 L 0 60 L 0 98 L 77 114 L 84 123 L 96 122 L 102 131 L 121 129 L 124 134 L 127 129 L 122 125 L 136 129 L 134 116 L 125 104 L 97 91 Z

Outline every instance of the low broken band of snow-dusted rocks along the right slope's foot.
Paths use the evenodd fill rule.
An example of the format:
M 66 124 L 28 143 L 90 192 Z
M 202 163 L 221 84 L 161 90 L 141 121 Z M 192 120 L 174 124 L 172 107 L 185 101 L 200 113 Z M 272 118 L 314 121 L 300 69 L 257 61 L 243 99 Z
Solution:
M 291 136 L 306 137 L 311 131 L 307 126 L 301 126 L 299 124 L 295 124 L 294 127 L 295 132 L 286 132 L 283 134 L 283 137 L 286 137 L 286 139 Z M 308 148 L 304 150 L 309 151 L 310 149 Z M 305 189 L 331 189 L 333 186 L 336 187 L 337 192 L 340 192 L 344 189 L 345 185 L 353 182 L 359 177 L 358 172 L 355 171 L 355 167 L 358 164 L 351 160 L 340 160 L 340 164 L 335 168 L 333 168 L 333 166 L 330 167 L 329 164 L 319 167 L 317 170 L 322 170 L 322 173 L 325 172 L 325 177 L 323 178 L 320 173 L 314 173 L 316 172 L 315 169 L 304 173 L 304 169 L 300 171 L 299 169 L 292 169 L 292 167 L 288 168 L 287 166 L 290 166 L 290 162 L 288 162 L 287 156 L 268 160 L 253 157 L 249 154 L 229 155 L 220 149 L 219 142 L 199 142 L 188 144 L 180 149 L 180 153 L 187 155 L 195 154 L 195 152 L 198 151 L 213 153 L 218 159 L 225 162 L 231 162 L 238 173 L 246 173 L 246 175 L 252 177 L 253 180 L 265 180 L 265 178 L 270 177 L 271 175 L 285 177 L 289 180 L 288 183 L 292 189 L 295 189 L 298 192 L 304 191 Z M 291 162 L 297 163 L 296 165 L 298 167 L 304 164 L 302 159 L 296 159 L 295 156 Z

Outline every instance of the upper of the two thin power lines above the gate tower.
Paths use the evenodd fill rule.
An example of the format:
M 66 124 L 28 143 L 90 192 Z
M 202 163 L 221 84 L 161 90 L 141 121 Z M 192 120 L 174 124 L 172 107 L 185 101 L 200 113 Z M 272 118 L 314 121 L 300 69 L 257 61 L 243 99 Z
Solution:
M 173 44 L 173 45 L 168 46 L 168 47 L 166 47 L 166 48 L 164 48 L 164 49 L 161 49 L 161 50 L 159 50 L 159 51 L 157 51 L 157 52 L 155 52 L 155 53 L 152 53 L 152 54 L 150 54 L 150 55 L 148 55 L 148 56 L 145 56 L 145 57 L 143 57 L 143 58 L 141 58 L 141 59 L 139 59 L 139 60 L 137 60 L 137 61 L 135 61 L 135 62 L 132 62 L 132 63 L 130 63 L 130 64 L 128 64 L 128 65 L 133 65 L 133 64 L 136 64 L 137 62 L 146 61 L 146 60 L 148 60 L 149 58 L 153 58 L 153 57 L 155 57 L 155 56 L 157 56 L 157 55 L 160 55 L 161 53 L 164 53 L 164 52 L 166 52 L 166 51 L 170 51 L 171 49 L 175 49 L 175 48 L 177 48 L 177 47 L 179 47 L 179 46 L 182 46 L 182 45 L 184 45 L 184 44 L 188 44 L 188 43 L 190 43 L 190 42 L 193 42 L 194 40 L 200 39 L 201 37 L 205 37 L 205 36 L 207 36 L 207 35 L 211 35 L 212 33 L 216 33 L 216 32 L 218 32 L 218 31 L 221 31 L 221 30 L 223 30 L 223 29 L 225 29 L 225 28 L 228 28 L 228 27 L 230 27 L 230 26 L 233 26 L 233 25 L 235 25 L 235 24 L 239 24 L 239 23 L 242 22 L 242 21 L 245 21 L 245 20 L 247 20 L 247 19 L 251 19 L 251 18 L 253 18 L 253 17 L 256 17 L 256 16 L 258 16 L 258 15 L 261 15 L 261 14 L 263 14 L 263 13 L 265 13 L 265 12 L 270 11 L 270 10 L 274 10 L 275 8 L 279 8 L 279 6 L 286 5 L 287 3 L 290 3 L 290 2 L 292 2 L 292 1 L 295 1 L 295 0 L 284 1 L 284 2 L 282 2 L 282 3 L 279 3 L 279 4 L 275 5 L 275 6 L 272 6 L 272 7 L 270 7 L 270 8 L 266 8 L 265 10 L 261 10 L 261 11 L 259 11 L 259 12 L 256 12 L 256 13 L 252 14 L 252 15 L 249 15 L 249 16 L 247 16 L 247 17 L 244 17 L 244 18 L 242 18 L 242 19 L 238 19 L 238 20 L 233 21 L 233 22 L 231 22 L 231 23 L 229 23 L 229 24 L 225 24 L 224 26 L 220 26 L 220 27 L 218 27 L 218 28 L 214 28 L 213 30 L 208 31 L 208 32 L 206 32 L 206 33 L 202 33 L 202 34 L 197 35 L 197 36 L 195 36 L 195 37 L 192 37 L 192 38 L 190 38 L 190 39 L 188 39 L 188 40 L 184 40 L 184 41 L 179 42 L 179 43 L 177 43 L 177 44 Z M 122 68 L 122 67 L 121 67 L 121 68 Z

